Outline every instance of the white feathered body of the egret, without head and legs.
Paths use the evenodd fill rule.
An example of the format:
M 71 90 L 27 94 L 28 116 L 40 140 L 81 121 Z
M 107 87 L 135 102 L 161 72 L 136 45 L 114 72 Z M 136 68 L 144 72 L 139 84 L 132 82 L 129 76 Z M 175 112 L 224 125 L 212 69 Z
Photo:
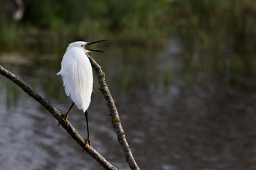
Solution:
M 65 94 L 70 96 L 75 105 L 86 111 L 92 94 L 92 66 L 85 52 L 73 48 L 65 52 L 61 62 L 61 74 Z

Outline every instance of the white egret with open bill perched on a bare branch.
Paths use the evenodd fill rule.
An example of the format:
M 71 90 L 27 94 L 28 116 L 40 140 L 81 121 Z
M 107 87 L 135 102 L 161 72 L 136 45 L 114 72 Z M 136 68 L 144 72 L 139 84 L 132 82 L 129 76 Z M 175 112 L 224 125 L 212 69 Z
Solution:
M 92 94 L 92 65 L 87 57 L 87 52 L 105 52 L 101 50 L 91 50 L 87 48 L 87 45 L 92 45 L 97 42 L 105 40 L 98 40 L 93 42 L 76 41 L 70 43 L 63 55 L 61 62 L 61 69 L 57 75 L 61 75 L 63 79 L 63 86 L 65 86 L 65 94 L 73 101 L 72 105 L 68 109 L 67 113 L 61 113 L 65 117 L 65 123 L 68 120 L 68 113 L 71 108 L 77 106 L 85 113 L 86 125 L 87 125 L 87 139 L 86 142 L 90 143 L 89 126 L 87 119 L 87 108 L 90 105 Z M 107 53 L 107 52 L 105 52 Z

